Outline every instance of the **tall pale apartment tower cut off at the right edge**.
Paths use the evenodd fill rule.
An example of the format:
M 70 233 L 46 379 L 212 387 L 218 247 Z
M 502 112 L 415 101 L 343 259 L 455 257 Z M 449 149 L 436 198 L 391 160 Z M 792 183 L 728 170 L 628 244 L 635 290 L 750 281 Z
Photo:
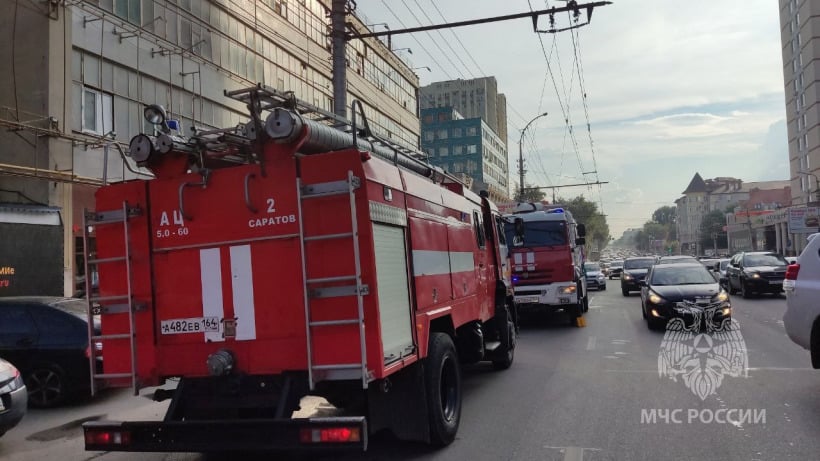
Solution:
M 814 32 L 818 27 L 820 3 L 780 0 L 789 171 L 795 205 L 820 200 L 820 74 L 815 65 L 820 57 L 820 38 Z

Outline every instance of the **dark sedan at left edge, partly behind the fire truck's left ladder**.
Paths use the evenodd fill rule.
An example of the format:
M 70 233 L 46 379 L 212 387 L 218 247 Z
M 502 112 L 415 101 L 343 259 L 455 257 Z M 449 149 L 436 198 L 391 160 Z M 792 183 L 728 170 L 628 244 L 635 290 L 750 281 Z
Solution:
M 87 393 L 89 353 L 85 301 L 0 298 L 0 357 L 20 370 L 30 406 L 51 407 Z

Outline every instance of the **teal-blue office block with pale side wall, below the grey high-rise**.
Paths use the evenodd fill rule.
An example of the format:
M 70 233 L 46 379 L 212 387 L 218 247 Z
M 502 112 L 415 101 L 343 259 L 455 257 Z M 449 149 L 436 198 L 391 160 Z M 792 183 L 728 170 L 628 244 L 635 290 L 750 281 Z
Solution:
M 430 163 L 465 174 L 474 191 L 490 199 L 509 200 L 507 147 L 480 117 L 465 118 L 452 107 L 421 110 L 421 147 Z

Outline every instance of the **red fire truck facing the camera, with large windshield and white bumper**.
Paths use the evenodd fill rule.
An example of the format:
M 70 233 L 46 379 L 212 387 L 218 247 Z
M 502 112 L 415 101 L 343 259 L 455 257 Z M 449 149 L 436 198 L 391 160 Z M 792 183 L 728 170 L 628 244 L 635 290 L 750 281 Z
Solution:
M 589 309 L 584 225 L 560 205 L 541 203 L 520 203 L 504 220 L 517 308 L 566 312 L 578 324 Z

